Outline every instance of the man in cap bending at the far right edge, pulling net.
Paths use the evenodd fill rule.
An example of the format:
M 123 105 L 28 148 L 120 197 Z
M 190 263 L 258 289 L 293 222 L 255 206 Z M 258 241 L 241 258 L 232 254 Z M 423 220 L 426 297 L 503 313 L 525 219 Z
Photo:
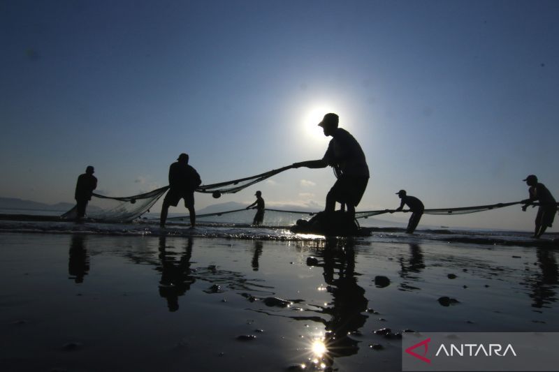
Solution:
M 537 177 L 534 174 L 530 174 L 528 177 L 523 179 L 530 188 L 528 193 L 530 193 L 530 198 L 522 200 L 524 205 L 522 210 L 526 211 L 526 208 L 533 204 L 536 200 L 539 202 L 539 209 L 536 215 L 536 228 L 534 230 L 534 237 L 538 239 L 553 223 L 555 214 L 557 211 L 557 202 L 549 190 L 537 181 Z

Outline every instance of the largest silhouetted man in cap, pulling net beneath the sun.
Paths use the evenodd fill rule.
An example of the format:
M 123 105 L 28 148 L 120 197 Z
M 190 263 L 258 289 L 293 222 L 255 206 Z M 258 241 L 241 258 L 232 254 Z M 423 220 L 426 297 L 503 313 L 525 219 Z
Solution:
M 355 218 L 355 207 L 363 198 L 369 181 L 369 168 L 365 154 L 357 140 L 348 131 L 338 128 L 337 114 L 326 114 L 319 123 L 326 137 L 332 136 L 324 157 L 314 161 L 293 163 L 293 168 L 334 168 L 337 181 L 326 195 L 327 213 L 335 210 L 336 202 L 345 204 L 351 219 Z

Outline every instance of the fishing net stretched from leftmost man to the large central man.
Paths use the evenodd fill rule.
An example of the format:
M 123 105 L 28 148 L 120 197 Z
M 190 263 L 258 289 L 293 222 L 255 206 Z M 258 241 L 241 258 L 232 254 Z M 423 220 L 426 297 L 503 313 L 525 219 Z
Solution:
M 234 179 L 233 181 L 219 182 L 217 184 L 201 185 L 196 188 L 198 193 L 211 193 L 214 198 L 219 198 L 225 193 L 236 193 L 243 188 L 264 181 L 279 172 L 293 168 L 288 165 L 283 168 L 270 170 L 255 176 Z M 110 197 L 93 193 L 92 200 L 87 204 L 87 218 L 104 222 L 128 222 L 142 216 L 166 193 L 169 186 L 158 188 L 139 195 L 126 197 Z M 231 212 L 225 212 L 231 213 Z M 77 207 L 73 207 L 61 216 L 64 219 L 75 219 L 78 216 Z

